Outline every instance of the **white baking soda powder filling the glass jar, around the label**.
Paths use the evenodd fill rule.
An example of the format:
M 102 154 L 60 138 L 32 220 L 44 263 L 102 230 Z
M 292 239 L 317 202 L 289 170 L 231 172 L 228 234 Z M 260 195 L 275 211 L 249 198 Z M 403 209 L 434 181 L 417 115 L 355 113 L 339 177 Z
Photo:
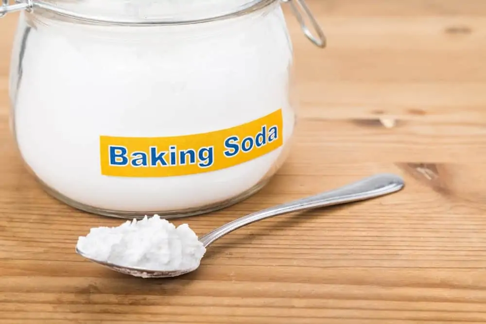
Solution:
M 173 5 L 173 11 L 180 6 L 159 2 Z M 31 17 L 21 14 L 17 41 L 26 15 Z M 254 188 L 283 162 L 295 112 L 289 98 L 292 49 L 278 5 L 263 14 L 184 26 L 33 21 L 21 79 L 11 80 L 15 134 L 30 169 L 70 200 L 142 213 L 198 208 Z M 277 109 L 283 116 L 282 147 L 243 164 L 160 178 L 100 172 L 101 135 L 205 133 Z

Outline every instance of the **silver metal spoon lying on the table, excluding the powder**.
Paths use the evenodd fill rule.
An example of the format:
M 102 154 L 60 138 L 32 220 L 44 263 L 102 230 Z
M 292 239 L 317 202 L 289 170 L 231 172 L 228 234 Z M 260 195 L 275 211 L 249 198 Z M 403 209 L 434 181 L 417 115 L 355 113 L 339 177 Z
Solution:
M 293 213 L 296 211 L 303 211 L 317 207 L 340 205 L 371 199 L 399 191 L 401 188 L 403 188 L 404 185 L 405 184 L 403 183 L 403 179 L 400 178 L 398 175 L 387 173 L 377 174 L 341 188 L 326 191 L 315 196 L 299 199 L 290 203 L 267 208 L 253 214 L 243 216 L 232 222 L 228 222 L 219 228 L 216 228 L 215 230 L 202 236 L 199 241 L 203 243 L 204 247 L 208 247 L 212 242 L 219 238 L 222 238 L 226 234 L 254 222 L 258 222 L 282 214 Z M 196 267 L 193 269 L 180 269 L 173 271 L 154 271 L 138 268 L 129 268 L 91 259 L 89 258 L 89 256 L 79 251 L 77 247 L 76 253 L 93 262 L 108 267 L 111 270 L 143 278 L 175 277 L 181 274 L 190 273 L 198 268 Z

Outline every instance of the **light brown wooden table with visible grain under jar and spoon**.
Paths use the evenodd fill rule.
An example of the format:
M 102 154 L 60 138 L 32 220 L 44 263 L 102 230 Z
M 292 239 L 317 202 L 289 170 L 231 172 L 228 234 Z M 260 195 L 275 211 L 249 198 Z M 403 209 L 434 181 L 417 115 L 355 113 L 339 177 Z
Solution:
M 256 223 L 195 273 L 159 281 L 74 253 L 90 227 L 120 221 L 57 202 L 22 167 L 8 129 L 17 15 L 0 19 L 0 323 L 486 322 L 486 2 L 308 3 L 329 44 L 288 16 L 301 92 L 292 155 L 247 201 L 174 223 L 202 234 L 378 172 L 406 188 Z

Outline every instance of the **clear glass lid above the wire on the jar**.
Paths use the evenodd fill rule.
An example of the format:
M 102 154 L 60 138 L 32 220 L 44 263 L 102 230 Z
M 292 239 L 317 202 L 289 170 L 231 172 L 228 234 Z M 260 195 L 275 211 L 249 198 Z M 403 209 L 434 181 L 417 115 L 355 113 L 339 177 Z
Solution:
M 33 0 L 39 15 L 113 25 L 185 25 L 240 17 L 279 0 Z

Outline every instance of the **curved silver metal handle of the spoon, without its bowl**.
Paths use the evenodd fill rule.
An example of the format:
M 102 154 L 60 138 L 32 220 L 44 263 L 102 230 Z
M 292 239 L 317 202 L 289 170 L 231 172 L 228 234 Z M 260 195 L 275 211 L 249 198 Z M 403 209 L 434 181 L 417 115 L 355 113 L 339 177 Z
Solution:
M 204 247 L 222 238 L 226 234 L 245 225 L 258 222 L 270 217 L 293 213 L 317 207 L 346 204 L 370 198 L 383 196 L 403 188 L 403 179 L 398 175 L 382 173 L 364 178 L 360 181 L 348 184 L 344 187 L 326 191 L 315 196 L 295 200 L 275 207 L 263 209 L 253 214 L 240 217 L 232 222 L 216 228 L 199 240 Z

